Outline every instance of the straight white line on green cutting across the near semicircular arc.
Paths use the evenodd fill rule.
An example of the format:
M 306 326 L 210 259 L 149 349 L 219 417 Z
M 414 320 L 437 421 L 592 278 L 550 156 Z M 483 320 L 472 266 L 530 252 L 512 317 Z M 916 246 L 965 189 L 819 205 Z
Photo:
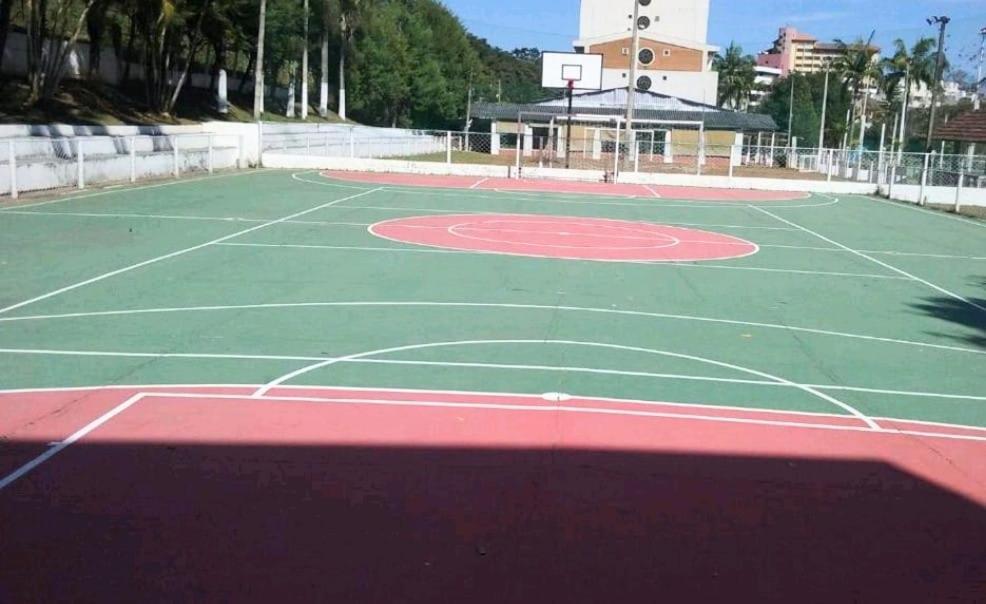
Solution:
M 211 353 L 172 353 L 172 352 L 117 352 L 99 350 L 50 350 L 50 349 L 22 349 L 22 348 L 0 348 L 0 354 L 11 355 L 38 355 L 38 356 L 78 356 L 78 357 L 117 357 L 135 359 L 204 359 L 204 360 L 237 360 L 237 361 L 299 361 L 299 362 L 322 362 L 337 361 L 339 363 L 352 365 L 394 365 L 394 366 L 414 366 L 414 367 L 444 367 L 444 368 L 463 368 L 463 369 L 505 369 L 512 371 L 544 371 L 559 373 L 584 373 L 598 375 L 618 375 L 624 377 L 644 377 L 662 380 L 709 382 L 717 384 L 735 384 L 740 386 L 766 386 L 779 388 L 800 388 L 808 387 L 817 390 L 837 390 L 844 392 L 859 392 L 867 394 L 886 394 L 890 396 L 906 396 L 914 398 L 940 398 L 947 400 L 962 401 L 986 401 L 986 396 L 966 395 L 966 394 L 943 394 L 938 392 L 918 392 L 909 390 L 890 390 L 884 388 L 865 388 L 861 386 L 843 386 L 834 384 L 806 384 L 801 382 L 777 382 L 768 380 L 752 380 L 738 378 L 722 378 L 701 375 L 688 375 L 676 373 L 658 373 L 649 371 L 627 371 L 621 369 L 598 369 L 594 367 L 572 367 L 565 365 L 524 365 L 511 363 L 474 363 L 462 361 L 415 361 L 405 359 L 373 359 L 358 358 L 350 359 L 347 357 L 326 357 L 326 356 L 288 356 L 288 355 L 263 355 L 263 354 L 211 354 Z M 287 387 L 281 385 L 279 387 Z M 255 388 L 259 388 L 256 386 Z M 4 390 L 0 390 L 3 394 Z M 703 405 L 708 406 L 708 405 Z M 745 407 L 724 407 L 745 409 Z M 755 407 L 751 407 L 754 408 Z M 841 417 L 841 416 L 840 416 Z M 986 429 L 986 428 L 984 428 Z

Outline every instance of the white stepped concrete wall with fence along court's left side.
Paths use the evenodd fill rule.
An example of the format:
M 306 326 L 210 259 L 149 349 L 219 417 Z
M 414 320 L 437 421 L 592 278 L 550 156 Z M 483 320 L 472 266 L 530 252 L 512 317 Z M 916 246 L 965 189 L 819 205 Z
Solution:
M 0 195 L 138 182 L 243 166 L 237 135 L 0 139 Z

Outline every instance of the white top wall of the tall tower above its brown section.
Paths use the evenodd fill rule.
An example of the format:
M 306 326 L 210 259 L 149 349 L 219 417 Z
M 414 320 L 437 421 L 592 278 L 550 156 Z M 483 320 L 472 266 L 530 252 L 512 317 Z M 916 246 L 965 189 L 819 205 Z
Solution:
M 579 38 L 597 38 L 631 31 L 633 0 L 582 0 Z M 709 32 L 709 0 L 653 0 L 640 7 L 650 17 L 648 33 L 705 43 Z

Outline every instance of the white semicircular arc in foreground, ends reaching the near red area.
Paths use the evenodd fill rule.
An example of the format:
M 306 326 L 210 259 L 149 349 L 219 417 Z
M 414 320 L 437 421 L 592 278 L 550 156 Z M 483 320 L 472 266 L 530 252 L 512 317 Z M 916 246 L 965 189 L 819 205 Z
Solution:
M 677 353 L 677 352 L 669 352 L 669 351 L 666 351 L 666 350 L 656 350 L 656 349 L 652 349 L 652 348 L 642 348 L 642 347 L 637 347 L 637 346 L 622 346 L 622 345 L 618 345 L 618 344 L 603 344 L 601 342 L 579 342 L 579 341 L 574 341 L 574 340 L 463 340 L 463 341 L 455 341 L 455 342 L 429 342 L 429 343 L 425 343 L 425 344 L 410 344 L 410 345 L 407 345 L 407 346 L 397 346 L 397 347 L 393 347 L 393 348 L 384 348 L 384 349 L 380 349 L 380 350 L 370 350 L 370 351 L 366 351 L 366 352 L 359 352 L 359 353 L 355 353 L 355 354 L 346 355 L 344 357 L 339 357 L 337 359 L 330 359 L 330 360 L 327 360 L 327 361 L 321 361 L 321 362 L 318 362 L 318 363 L 313 363 L 311 365 L 308 365 L 307 367 L 302 367 L 301 369 L 297 369 L 295 371 L 291 371 L 289 373 L 286 373 L 286 374 L 278 377 L 277 379 L 271 380 L 270 382 L 268 382 L 267 384 L 265 384 L 262 388 L 258 388 L 257 391 L 254 392 L 254 396 L 256 396 L 256 397 L 262 397 L 265 394 L 267 394 L 268 392 L 270 392 L 271 389 L 276 388 L 280 384 L 283 384 L 285 382 L 288 382 L 288 381 L 290 381 L 290 380 L 292 380 L 292 379 L 294 379 L 296 377 L 305 375 L 306 373 L 310 373 L 310 372 L 315 371 L 315 370 L 318 370 L 318 369 L 324 369 L 325 367 L 330 367 L 330 366 L 332 366 L 332 365 L 334 365 L 336 363 L 344 362 L 344 361 L 350 360 L 350 359 L 369 358 L 369 357 L 379 356 L 379 355 L 382 355 L 382 354 L 390 354 L 390 353 L 394 353 L 394 352 L 405 352 L 405 351 L 411 351 L 411 350 L 429 350 L 429 349 L 433 349 L 433 348 L 444 348 L 444 347 L 454 347 L 454 346 L 475 346 L 475 345 L 488 345 L 488 344 L 495 344 L 495 345 L 496 344 L 557 344 L 557 345 L 563 345 L 563 346 L 584 346 L 584 347 L 588 347 L 588 348 L 600 348 L 600 349 L 607 349 L 607 350 L 624 350 L 624 351 L 629 351 L 629 352 L 640 352 L 640 353 L 644 353 L 644 354 L 652 354 L 652 355 L 664 356 L 664 357 L 675 358 L 675 359 L 685 359 L 685 360 L 689 360 L 689 361 L 695 361 L 695 362 L 703 363 L 703 364 L 706 364 L 706 365 L 712 365 L 714 367 L 720 367 L 720 368 L 723 368 L 723 369 L 731 369 L 731 370 L 734 370 L 734 371 L 738 371 L 740 373 L 746 373 L 748 375 L 754 375 L 754 376 L 757 376 L 757 377 L 766 378 L 768 380 L 773 380 L 773 381 L 776 381 L 776 382 L 781 382 L 781 383 L 784 383 L 784 384 L 789 384 L 792 387 L 797 388 L 798 390 L 801 390 L 803 392 L 806 392 L 806 393 L 808 393 L 808 394 L 810 394 L 812 396 L 815 396 L 816 398 L 820 398 L 823 401 L 826 401 L 826 402 L 831 403 L 831 404 L 833 404 L 833 405 L 835 405 L 835 406 L 837 406 L 837 407 L 839 407 L 839 408 L 841 408 L 841 409 L 843 409 L 845 411 L 848 411 L 856 419 L 860 420 L 861 422 L 863 422 L 864 424 L 866 424 L 867 426 L 869 426 L 869 428 L 871 428 L 873 430 L 880 430 L 880 425 L 879 424 L 877 424 L 875 421 L 873 421 L 873 419 L 871 419 L 871 418 L 867 417 L 866 415 L 864 415 L 861 411 L 859 411 L 855 407 L 853 407 L 851 405 L 848 405 L 848 404 L 840 401 L 839 399 L 837 399 L 835 397 L 829 396 L 828 394 L 825 394 L 824 392 L 822 392 L 820 390 L 816 390 L 814 388 L 805 386 L 804 384 L 797 384 L 797 383 L 792 382 L 790 380 L 787 380 L 785 378 L 782 378 L 782 377 L 779 377 L 779 376 L 776 376 L 776 375 L 771 375 L 771 374 L 766 373 L 766 372 L 763 372 L 763 371 L 758 371 L 756 369 L 750 369 L 749 367 L 743 367 L 741 365 L 734 365 L 734 364 L 731 364 L 731 363 L 725 363 L 723 361 L 716 361 L 716 360 L 713 360 L 713 359 L 708 359 L 708 358 L 700 357 L 700 356 L 696 356 L 696 355 L 687 355 L 687 354 L 681 354 L 681 353 Z

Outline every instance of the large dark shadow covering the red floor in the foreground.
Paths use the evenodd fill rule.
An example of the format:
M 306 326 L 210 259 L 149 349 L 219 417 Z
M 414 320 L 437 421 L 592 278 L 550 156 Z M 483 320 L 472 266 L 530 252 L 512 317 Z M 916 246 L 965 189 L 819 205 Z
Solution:
M 986 510 L 867 461 L 79 443 L 0 492 L 0 534 L 3 602 L 986 594 Z

